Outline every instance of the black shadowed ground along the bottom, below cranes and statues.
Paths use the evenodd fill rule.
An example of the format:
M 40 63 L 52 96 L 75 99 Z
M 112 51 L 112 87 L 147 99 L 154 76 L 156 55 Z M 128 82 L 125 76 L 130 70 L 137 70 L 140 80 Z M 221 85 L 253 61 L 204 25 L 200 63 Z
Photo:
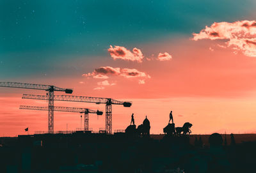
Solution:
M 2 138 L 0 172 L 255 172 L 256 135 L 209 137 L 78 132 Z

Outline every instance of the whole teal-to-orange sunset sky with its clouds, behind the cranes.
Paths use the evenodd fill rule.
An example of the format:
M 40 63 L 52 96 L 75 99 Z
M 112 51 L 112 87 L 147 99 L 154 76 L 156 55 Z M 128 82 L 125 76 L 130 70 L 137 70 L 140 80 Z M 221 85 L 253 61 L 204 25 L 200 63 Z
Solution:
M 0 81 L 49 84 L 77 96 L 131 101 L 113 106 L 113 131 L 134 113 L 151 133 L 175 126 L 192 133 L 256 132 L 256 2 L 0 0 Z M 0 87 L 0 136 L 47 130 L 47 106 Z M 64 94 L 56 92 L 55 94 Z M 55 102 L 103 110 L 93 103 Z M 90 128 L 105 117 L 90 115 Z M 54 112 L 54 130 L 81 128 L 80 114 Z

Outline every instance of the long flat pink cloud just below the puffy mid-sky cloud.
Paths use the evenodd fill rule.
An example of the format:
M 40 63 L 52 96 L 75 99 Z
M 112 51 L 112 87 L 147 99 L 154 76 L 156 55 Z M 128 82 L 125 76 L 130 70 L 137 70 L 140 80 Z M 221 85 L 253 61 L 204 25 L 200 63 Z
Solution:
M 111 66 L 101 66 L 96 68 L 92 73 L 83 74 L 84 77 L 99 77 L 99 76 L 108 77 L 109 75 L 113 76 L 122 76 L 125 78 L 134 78 L 142 77 L 150 79 L 150 75 L 145 72 L 138 71 L 135 68 L 113 68 Z

